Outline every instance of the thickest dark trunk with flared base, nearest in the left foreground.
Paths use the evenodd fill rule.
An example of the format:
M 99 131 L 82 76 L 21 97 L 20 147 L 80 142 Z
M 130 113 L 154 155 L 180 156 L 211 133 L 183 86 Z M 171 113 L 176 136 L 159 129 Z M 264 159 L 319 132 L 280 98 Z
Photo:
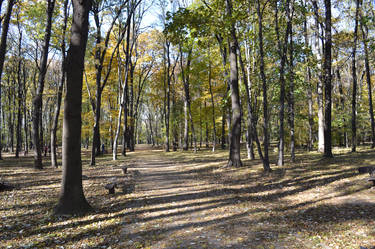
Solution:
M 66 58 L 62 185 L 56 214 L 86 213 L 92 210 L 82 188 L 81 125 L 82 80 L 92 1 L 73 0 L 73 22 Z

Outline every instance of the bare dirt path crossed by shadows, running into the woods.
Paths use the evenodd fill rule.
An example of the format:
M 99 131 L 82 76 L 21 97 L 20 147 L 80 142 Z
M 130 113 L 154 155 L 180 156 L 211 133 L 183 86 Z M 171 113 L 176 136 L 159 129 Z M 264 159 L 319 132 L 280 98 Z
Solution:
M 142 161 L 141 161 L 142 160 Z M 198 178 L 191 165 L 175 164 L 146 151 L 137 158 L 136 194 L 121 230 L 121 246 L 150 248 L 252 248 L 243 229 L 251 224 L 247 209 L 220 186 Z M 246 239 L 249 242 L 248 232 Z

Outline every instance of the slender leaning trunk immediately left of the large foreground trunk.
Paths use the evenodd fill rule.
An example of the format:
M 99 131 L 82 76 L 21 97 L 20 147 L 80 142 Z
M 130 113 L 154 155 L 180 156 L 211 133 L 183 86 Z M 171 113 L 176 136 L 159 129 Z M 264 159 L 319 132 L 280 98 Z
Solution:
M 65 55 L 66 55 L 66 48 L 65 48 L 65 36 L 66 36 L 66 28 L 68 23 L 68 0 L 64 1 L 64 22 L 62 27 L 62 35 L 61 35 L 61 79 L 60 84 L 57 89 L 57 100 L 56 100 L 56 107 L 55 107 L 55 114 L 53 117 L 53 125 L 51 129 L 51 164 L 52 167 L 57 168 L 57 128 L 59 123 L 59 116 L 60 116 L 60 108 L 61 108 L 61 100 L 62 100 L 62 93 L 65 83 Z

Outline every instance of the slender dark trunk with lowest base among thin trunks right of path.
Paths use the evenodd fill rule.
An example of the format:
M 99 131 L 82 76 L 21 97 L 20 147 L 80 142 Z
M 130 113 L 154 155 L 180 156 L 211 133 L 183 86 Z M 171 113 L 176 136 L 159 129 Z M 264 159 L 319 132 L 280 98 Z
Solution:
M 260 54 L 260 76 L 262 79 L 263 90 L 263 136 L 264 136 L 264 156 L 263 168 L 265 172 L 271 171 L 269 157 L 268 157 L 268 103 L 267 103 L 267 81 L 264 73 L 264 51 L 263 51 L 263 13 L 260 9 L 260 0 L 257 0 L 257 14 L 258 14 L 258 39 L 259 39 L 259 54 Z

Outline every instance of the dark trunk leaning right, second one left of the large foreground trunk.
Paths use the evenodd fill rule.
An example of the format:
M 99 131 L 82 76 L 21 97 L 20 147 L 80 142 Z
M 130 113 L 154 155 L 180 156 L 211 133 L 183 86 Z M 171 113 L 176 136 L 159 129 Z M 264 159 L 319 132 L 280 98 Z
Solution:
M 55 7 L 55 0 L 48 0 L 47 5 L 47 25 L 44 37 L 42 60 L 39 66 L 39 76 L 38 76 L 38 86 L 33 99 L 33 143 L 34 143 L 34 167 L 36 169 L 42 169 L 42 146 L 43 146 L 43 136 L 40 133 L 43 131 L 42 123 L 42 103 L 43 103 L 43 90 L 44 90 L 44 80 L 47 73 L 47 63 L 48 63 L 48 49 L 49 42 L 51 38 L 52 30 L 52 16 L 53 9 Z

